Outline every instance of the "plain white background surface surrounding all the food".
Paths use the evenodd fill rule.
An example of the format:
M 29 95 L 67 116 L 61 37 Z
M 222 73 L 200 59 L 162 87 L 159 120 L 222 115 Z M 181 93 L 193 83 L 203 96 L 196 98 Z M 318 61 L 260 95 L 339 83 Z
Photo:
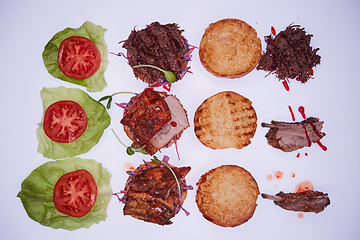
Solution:
M 1 1 L 0 3 L 0 69 L 1 69 L 1 239 L 359 239 L 359 23 L 358 1 Z M 264 78 L 264 71 L 253 71 L 247 76 L 227 80 L 215 78 L 202 67 L 198 50 L 190 63 L 193 74 L 187 74 L 173 85 L 175 94 L 188 111 L 191 123 L 178 142 L 181 160 L 175 149 L 164 150 L 170 163 L 191 166 L 187 182 L 196 189 L 200 176 L 223 164 L 237 164 L 247 169 L 257 180 L 260 191 L 275 194 L 293 192 L 299 182 L 311 181 L 316 190 L 327 192 L 331 205 L 322 213 L 306 213 L 299 218 L 296 212 L 283 210 L 271 201 L 258 199 L 253 218 L 235 228 L 218 227 L 205 220 L 195 203 L 196 190 L 188 193 L 184 207 L 187 217 L 180 212 L 171 226 L 145 223 L 123 216 L 123 205 L 113 197 L 108 206 L 108 218 L 90 229 L 76 231 L 55 230 L 31 220 L 16 197 L 21 182 L 30 172 L 51 161 L 37 152 L 36 129 L 41 121 L 43 87 L 78 87 L 53 78 L 42 62 L 45 44 L 66 27 L 78 28 L 89 20 L 108 29 L 105 40 L 109 51 L 124 52 L 118 42 L 130 31 L 146 24 L 176 22 L 184 29 L 189 43 L 199 46 L 205 28 L 223 18 L 238 18 L 253 26 L 266 45 L 264 36 L 271 26 L 277 32 L 289 24 L 300 24 L 314 36 L 313 47 L 319 47 L 321 65 L 314 69 L 314 79 L 306 84 L 290 82 L 285 91 L 273 76 Z M 89 93 L 95 99 L 117 91 L 141 92 L 146 84 L 134 78 L 122 57 L 109 55 L 105 72 L 108 86 L 100 93 Z M 82 87 L 79 87 L 86 90 Z M 160 89 L 159 89 L 160 90 Z M 204 147 L 195 137 L 193 117 L 201 102 L 220 91 L 232 90 L 253 102 L 258 116 L 258 129 L 252 144 L 241 150 L 214 151 Z M 115 101 L 126 101 L 127 95 Z M 291 121 L 288 106 L 296 120 L 297 111 L 304 106 L 307 116 L 325 122 L 327 134 L 323 151 L 316 144 L 311 148 L 284 153 L 267 145 L 267 129 L 261 122 Z M 111 128 L 125 142 L 128 140 L 119 124 L 122 110 L 110 109 L 112 123 L 100 143 L 80 157 L 93 158 L 112 173 L 113 191 L 124 187 L 128 162 L 138 165 L 141 154 L 127 156 L 117 142 Z M 127 142 L 129 143 L 129 142 Z M 296 155 L 300 153 L 300 157 Z M 308 156 L 305 156 L 305 153 Z M 282 171 L 281 179 L 266 180 L 268 174 Z M 290 174 L 295 173 L 295 177 Z

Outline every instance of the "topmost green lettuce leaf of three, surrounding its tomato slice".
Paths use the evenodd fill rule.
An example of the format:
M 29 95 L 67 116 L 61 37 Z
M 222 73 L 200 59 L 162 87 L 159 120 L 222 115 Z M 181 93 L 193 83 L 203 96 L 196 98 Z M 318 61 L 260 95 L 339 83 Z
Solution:
M 101 92 L 106 87 L 104 72 L 108 65 L 108 48 L 104 39 L 105 32 L 106 29 L 87 21 L 79 28 L 66 28 L 63 31 L 56 33 L 46 44 L 42 53 L 46 69 L 55 78 L 86 87 L 89 92 Z M 72 36 L 86 37 L 90 39 L 95 43 L 101 55 L 101 64 L 99 69 L 94 75 L 84 80 L 77 80 L 65 76 L 61 72 L 57 63 L 60 43 L 64 39 Z

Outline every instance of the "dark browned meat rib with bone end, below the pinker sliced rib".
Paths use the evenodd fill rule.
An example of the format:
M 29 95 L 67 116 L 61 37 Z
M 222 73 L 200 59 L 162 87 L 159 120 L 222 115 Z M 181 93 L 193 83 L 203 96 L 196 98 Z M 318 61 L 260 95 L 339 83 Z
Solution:
M 263 198 L 274 200 L 279 207 L 296 212 L 315 212 L 319 213 L 330 204 L 327 193 L 318 191 L 305 191 L 298 193 L 279 192 L 275 196 L 261 194 Z

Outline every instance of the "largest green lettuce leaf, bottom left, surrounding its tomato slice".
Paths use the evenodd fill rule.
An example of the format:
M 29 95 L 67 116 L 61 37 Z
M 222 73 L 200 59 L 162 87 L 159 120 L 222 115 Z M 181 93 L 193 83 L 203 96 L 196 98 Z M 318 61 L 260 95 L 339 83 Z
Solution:
M 93 208 L 81 218 L 60 213 L 54 206 L 52 196 L 55 183 L 64 174 L 85 169 L 89 171 L 98 187 L 98 195 Z M 44 163 L 22 182 L 17 197 L 28 216 L 41 225 L 52 228 L 75 230 L 89 228 L 94 223 L 105 221 L 106 208 L 112 197 L 111 174 L 93 159 L 68 158 Z

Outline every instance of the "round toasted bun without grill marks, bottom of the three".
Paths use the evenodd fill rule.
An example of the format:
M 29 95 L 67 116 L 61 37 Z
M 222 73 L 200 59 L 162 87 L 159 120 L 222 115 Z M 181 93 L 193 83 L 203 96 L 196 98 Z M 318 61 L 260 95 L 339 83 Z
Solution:
M 236 227 L 254 214 L 260 194 L 252 175 L 236 165 L 205 173 L 196 184 L 196 203 L 203 217 L 221 227 Z

